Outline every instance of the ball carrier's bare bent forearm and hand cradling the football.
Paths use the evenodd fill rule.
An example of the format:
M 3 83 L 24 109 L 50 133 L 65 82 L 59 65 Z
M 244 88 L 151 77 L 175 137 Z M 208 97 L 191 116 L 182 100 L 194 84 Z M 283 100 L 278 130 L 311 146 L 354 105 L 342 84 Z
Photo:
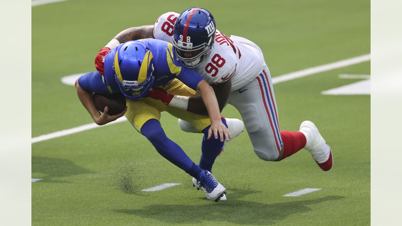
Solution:
M 105 107 L 105 110 L 101 115 L 98 109 L 96 109 L 95 107 L 94 101 L 92 99 L 92 93 L 84 90 L 80 86 L 80 84 L 78 84 L 78 79 L 75 82 L 75 87 L 77 89 L 78 99 L 80 99 L 82 105 L 84 105 L 88 113 L 91 115 L 92 119 L 94 119 L 94 122 L 98 125 L 105 125 L 106 123 L 115 121 L 119 117 L 123 116 L 127 111 L 126 107 L 126 109 L 118 115 L 108 115 L 107 112 L 109 111 L 109 108 Z

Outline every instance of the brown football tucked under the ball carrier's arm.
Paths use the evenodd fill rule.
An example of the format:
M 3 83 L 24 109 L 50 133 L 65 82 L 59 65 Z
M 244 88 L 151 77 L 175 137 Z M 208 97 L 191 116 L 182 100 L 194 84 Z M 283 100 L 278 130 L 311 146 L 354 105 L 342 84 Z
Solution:
M 105 107 L 109 107 L 108 115 L 117 115 L 124 111 L 126 107 L 125 97 L 122 94 L 106 95 L 94 93 L 92 98 L 98 111 L 103 113 Z

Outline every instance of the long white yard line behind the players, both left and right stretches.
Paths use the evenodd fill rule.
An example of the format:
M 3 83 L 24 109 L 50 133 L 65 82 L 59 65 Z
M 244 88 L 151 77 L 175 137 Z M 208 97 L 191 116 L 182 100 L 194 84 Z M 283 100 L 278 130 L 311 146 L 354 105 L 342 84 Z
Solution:
M 313 68 L 307 68 L 307 69 L 300 70 L 300 71 L 297 71 L 297 72 L 291 72 L 289 74 L 283 74 L 283 75 L 280 75 L 280 76 L 272 78 L 272 83 L 276 84 L 276 83 L 279 83 L 279 82 L 285 82 L 285 81 L 293 80 L 293 79 L 296 79 L 296 78 L 301 78 L 301 77 L 304 77 L 304 76 L 308 76 L 308 75 L 311 75 L 311 74 L 316 74 L 316 73 L 319 73 L 319 72 L 325 72 L 325 71 L 333 70 L 333 69 L 336 69 L 336 68 L 343 68 L 343 67 L 346 67 L 346 66 L 351 66 L 351 65 L 354 65 L 354 64 L 362 63 L 362 62 L 367 62 L 369 60 L 370 60 L 370 54 L 365 54 L 365 55 L 361 55 L 361 56 L 358 56 L 358 57 L 333 62 L 333 63 L 330 63 L 330 64 L 324 64 L 324 65 L 321 65 L 321 66 L 316 66 L 316 67 L 313 67 Z M 110 124 L 113 124 L 113 123 L 118 123 L 118 122 L 125 121 L 125 120 L 127 120 L 125 117 L 121 117 L 121 118 L 117 119 L 116 121 L 113 121 L 111 123 L 107 123 L 106 125 L 110 125 Z M 54 133 L 51 133 L 51 134 L 45 134 L 45 135 L 41 135 L 39 137 L 32 138 L 31 143 L 33 144 L 33 143 L 41 142 L 41 141 L 44 141 L 44 140 L 50 140 L 50 139 L 53 139 L 53 138 L 58 138 L 58 137 L 78 133 L 78 132 L 81 132 L 81 131 L 84 131 L 84 130 L 93 129 L 93 128 L 96 128 L 96 127 L 99 127 L 99 126 L 96 125 L 95 123 L 90 123 L 90 124 L 74 127 L 74 128 L 71 128 L 71 129 L 64 129 L 64 130 L 57 131 L 57 132 L 54 132 Z

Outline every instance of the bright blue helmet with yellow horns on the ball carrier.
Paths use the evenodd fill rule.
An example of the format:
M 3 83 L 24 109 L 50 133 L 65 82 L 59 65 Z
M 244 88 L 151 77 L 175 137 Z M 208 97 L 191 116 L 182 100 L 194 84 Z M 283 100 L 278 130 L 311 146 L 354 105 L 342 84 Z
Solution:
M 128 99 L 144 97 L 154 84 L 152 52 L 141 41 L 127 41 L 116 52 L 113 69 L 115 80 Z

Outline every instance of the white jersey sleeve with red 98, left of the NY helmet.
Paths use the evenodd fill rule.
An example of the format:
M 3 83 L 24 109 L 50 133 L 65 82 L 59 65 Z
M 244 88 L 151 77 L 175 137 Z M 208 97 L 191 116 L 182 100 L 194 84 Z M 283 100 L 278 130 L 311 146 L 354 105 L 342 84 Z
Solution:
M 176 12 L 166 12 L 159 16 L 154 25 L 154 37 L 172 43 L 173 26 L 180 14 Z

